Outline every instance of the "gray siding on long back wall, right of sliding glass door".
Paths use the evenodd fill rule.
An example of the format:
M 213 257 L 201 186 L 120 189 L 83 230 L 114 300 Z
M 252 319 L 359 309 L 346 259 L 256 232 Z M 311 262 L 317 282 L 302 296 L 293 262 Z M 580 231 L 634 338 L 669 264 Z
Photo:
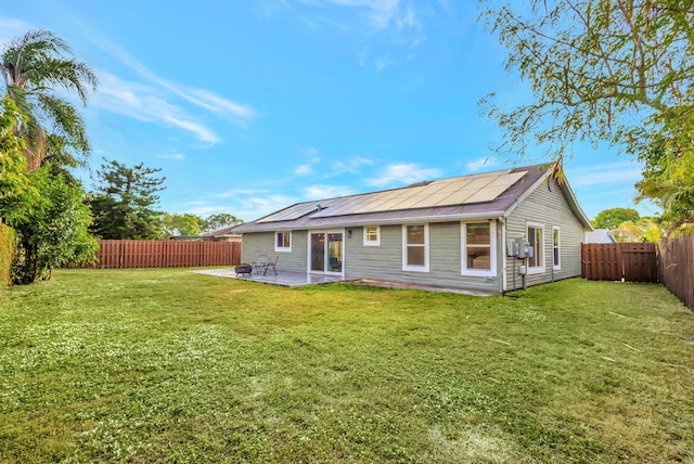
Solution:
M 346 240 L 345 276 L 471 291 L 501 292 L 501 278 L 461 275 L 461 223 L 429 223 L 429 272 L 402 270 L 402 225 L 382 225 L 381 246 L 363 246 L 363 229 Z M 499 234 L 500 228 L 498 228 Z M 501 269 L 498 240 L 498 269 Z

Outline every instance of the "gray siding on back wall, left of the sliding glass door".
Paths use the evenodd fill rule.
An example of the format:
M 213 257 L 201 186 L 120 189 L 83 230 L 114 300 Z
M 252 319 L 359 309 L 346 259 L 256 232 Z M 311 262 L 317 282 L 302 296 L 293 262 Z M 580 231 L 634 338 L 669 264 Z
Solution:
M 278 271 L 306 272 L 307 232 L 292 231 L 292 252 L 274 250 L 274 232 L 243 234 L 241 261 L 255 261 L 259 255 L 268 255 L 268 259 L 280 256 Z

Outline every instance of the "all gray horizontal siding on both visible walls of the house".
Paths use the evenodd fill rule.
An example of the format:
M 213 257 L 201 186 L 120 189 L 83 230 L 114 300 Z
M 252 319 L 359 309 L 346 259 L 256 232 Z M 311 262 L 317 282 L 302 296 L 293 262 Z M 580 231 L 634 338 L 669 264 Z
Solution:
M 554 183 L 536 189 L 506 218 L 507 239 L 526 234 L 528 221 L 543 224 L 543 257 L 545 270 L 541 274 L 527 276 L 528 285 L 551 282 L 580 275 L 580 250 L 584 239 L 584 228 L 571 211 L 563 192 Z M 496 219 L 493 219 L 496 220 Z M 523 281 L 518 274 L 520 260 L 506 258 L 503 269 L 505 246 L 502 243 L 504 224 L 497 222 L 497 278 L 461 275 L 461 222 L 432 222 L 429 225 L 429 271 L 402 270 L 402 225 L 381 225 L 381 245 L 363 245 L 363 228 L 346 228 L 344 236 L 344 269 L 347 279 L 373 279 L 421 285 L 485 291 L 500 293 L 502 274 L 506 275 L 506 288 L 520 288 Z M 552 227 L 560 228 L 561 270 L 552 269 Z M 351 236 L 349 236 L 351 231 Z M 270 257 L 280 255 L 278 270 L 307 272 L 308 231 L 292 231 L 292 252 L 274 252 L 274 233 L 257 232 L 243 235 L 242 261 L 256 260 L 258 255 Z

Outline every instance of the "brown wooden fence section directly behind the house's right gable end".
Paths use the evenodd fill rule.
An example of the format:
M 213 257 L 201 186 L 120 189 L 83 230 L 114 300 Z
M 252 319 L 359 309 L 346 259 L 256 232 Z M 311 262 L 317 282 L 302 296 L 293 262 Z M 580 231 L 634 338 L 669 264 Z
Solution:
M 584 243 L 581 276 L 589 281 L 658 282 L 654 243 Z

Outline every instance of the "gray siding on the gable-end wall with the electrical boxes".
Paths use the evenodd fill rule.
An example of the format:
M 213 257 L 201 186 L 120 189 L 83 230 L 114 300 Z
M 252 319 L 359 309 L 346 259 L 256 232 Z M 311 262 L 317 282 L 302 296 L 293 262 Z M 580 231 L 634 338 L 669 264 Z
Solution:
M 515 239 L 526 234 L 528 221 L 544 224 L 544 272 L 527 276 L 528 285 L 552 282 L 574 278 L 581 274 L 581 243 L 584 240 L 586 229 L 571 211 L 564 193 L 554 181 L 548 181 L 536 189 L 518 207 L 506 218 L 506 237 Z M 552 269 L 552 227 L 560 228 L 561 243 L 561 270 Z M 514 288 L 513 258 L 506 258 L 506 286 Z M 516 260 L 515 287 L 523 286 L 523 280 L 518 274 L 522 260 Z

